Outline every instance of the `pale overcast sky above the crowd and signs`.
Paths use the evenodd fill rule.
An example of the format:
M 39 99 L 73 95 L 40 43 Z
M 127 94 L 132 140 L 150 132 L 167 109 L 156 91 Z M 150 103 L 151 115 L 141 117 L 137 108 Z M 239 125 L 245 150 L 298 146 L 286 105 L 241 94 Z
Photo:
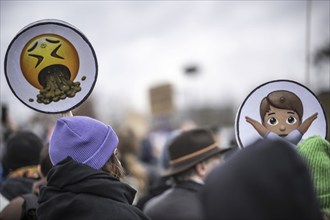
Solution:
M 59 19 L 89 39 L 98 59 L 92 95 L 106 111 L 149 112 L 148 89 L 169 82 L 178 108 L 244 100 L 275 79 L 306 84 L 306 1 L 2 1 L 1 102 L 32 112 L 10 91 L 4 57 L 26 25 Z M 311 53 L 329 42 L 330 1 L 313 1 Z M 183 68 L 200 67 L 189 77 Z M 330 87 L 329 64 L 311 67 L 309 88 Z M 24 114 L 22 114 L 24 113 Z M 25 114 L 26 113 L 26 114 Z

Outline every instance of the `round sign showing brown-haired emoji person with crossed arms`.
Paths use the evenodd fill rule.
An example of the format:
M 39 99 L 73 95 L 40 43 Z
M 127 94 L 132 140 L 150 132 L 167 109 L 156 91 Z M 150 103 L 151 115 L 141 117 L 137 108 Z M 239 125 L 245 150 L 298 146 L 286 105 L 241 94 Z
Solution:
M 258 138 L 283 139 L 297 145 L 304 136 L 325 137 L 322 106 L 306 87 L 288 80 L 259 86 L 243 102 L 236 117 L 240 147 Z

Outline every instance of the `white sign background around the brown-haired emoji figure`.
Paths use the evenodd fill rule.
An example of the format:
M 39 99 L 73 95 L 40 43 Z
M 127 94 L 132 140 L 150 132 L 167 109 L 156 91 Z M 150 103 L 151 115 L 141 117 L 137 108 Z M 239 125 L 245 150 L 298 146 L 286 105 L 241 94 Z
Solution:
M 258 139 L 261 135 L 246 121 L 250 117 L 262 124 L 259 106 L 264 97 L 269 93 L 285 90 L 298 96 L 303 105 L 302 121 L 317 113 L 317 118 L 312 122 L 308 130 L 303 134 L 302 139 L 312 135 L 326 137 L 327 123 L 322 105 L 315 94 L 304 85 L 291 80 L 275 80 L 264 83 L 255 88 L 242 102 L 235 119 L 235 136 L 240 148 L 244 148 Z

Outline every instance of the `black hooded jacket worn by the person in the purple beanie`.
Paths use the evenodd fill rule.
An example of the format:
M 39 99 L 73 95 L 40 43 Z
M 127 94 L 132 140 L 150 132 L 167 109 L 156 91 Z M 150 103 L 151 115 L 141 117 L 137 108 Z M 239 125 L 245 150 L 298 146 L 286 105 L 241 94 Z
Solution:
M 39 220 L 149 219 L 131 205 L 136 191 L 103 171 L 68 157 L 47 177 L 39 195 Z

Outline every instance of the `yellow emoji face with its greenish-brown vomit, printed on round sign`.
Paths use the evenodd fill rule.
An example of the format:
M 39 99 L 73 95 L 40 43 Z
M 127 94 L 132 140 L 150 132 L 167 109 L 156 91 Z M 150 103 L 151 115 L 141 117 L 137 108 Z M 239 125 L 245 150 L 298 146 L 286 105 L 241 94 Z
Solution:
M 49 104 L 75 96 L 80 83 L 73 83 L 79 57 L 73 45 L 61 36 L 44 34 L 31 39 L 21 53 L 25 79 L 37 89 L 37 102 Z

